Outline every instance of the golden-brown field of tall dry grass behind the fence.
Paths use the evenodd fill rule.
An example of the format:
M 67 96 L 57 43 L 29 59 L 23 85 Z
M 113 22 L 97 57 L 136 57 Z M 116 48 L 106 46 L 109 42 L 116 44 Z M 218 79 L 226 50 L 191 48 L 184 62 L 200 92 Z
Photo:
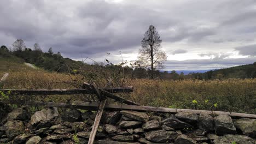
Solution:
M 3 88 L 74 88 L 67 82 L 80 84 L 84 81 L 80 75 L 34 70 L 22 63 L 10 64 L 10 62 L 0 61 L 0 64 L 0 77 L 5 72 L 10 74 Z M 256 79 L 210 81 L 133 79 L 128 80 L 127 83 L 129 83 L 127 85 L 134 86 L 135 91 L 123 97 L 142 105 L 256 114 Z M 15 97 L 24 98 L 18 95 Z M 84 95 L 55 95 L 45 98 L 41 95 L 29 99 L 66 102 L 67 99 L 85 101 L 86 97 Z

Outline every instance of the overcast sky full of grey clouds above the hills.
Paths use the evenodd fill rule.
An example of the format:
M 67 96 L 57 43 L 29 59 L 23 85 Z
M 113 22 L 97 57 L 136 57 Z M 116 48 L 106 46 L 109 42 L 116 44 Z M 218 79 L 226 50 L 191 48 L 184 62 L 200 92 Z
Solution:
M 0 45 L 23 39 L 77 61 L 103 62 L 107 53 L 113 63 L 136 61 L 154 25 L 167 55 L 163 70 L 256 62 L 255 0 L 3 0 L 0 19 Z

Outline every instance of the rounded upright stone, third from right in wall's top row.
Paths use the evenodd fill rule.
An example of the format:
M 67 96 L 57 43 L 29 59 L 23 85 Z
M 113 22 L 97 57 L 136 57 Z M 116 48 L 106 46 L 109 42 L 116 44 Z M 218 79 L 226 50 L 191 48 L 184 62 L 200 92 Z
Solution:
M 201 112 L 197 125 L 200 129 L 205 129 L 207 132 L 214 131 L 214 118 L 208 115 L 208 113 Z

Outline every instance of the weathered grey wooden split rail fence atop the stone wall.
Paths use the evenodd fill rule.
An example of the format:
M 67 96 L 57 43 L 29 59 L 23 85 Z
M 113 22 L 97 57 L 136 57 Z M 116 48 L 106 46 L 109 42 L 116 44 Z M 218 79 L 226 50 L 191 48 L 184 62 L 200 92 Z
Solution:
M 0 86 L 7 79 L 9 74 L 5 74 L 0 80 Z M 204 111 L 204 110 L 188 110 L 188 109 L 169 109 L 165 107 L 141 106 L 131 100 L 127 100 L 113 93 L 131 93 L 133 87 L 115 87 L 115 88 L 98 88 L 95 83 L 89 84 L 84 82 L 83 88 L 79 89 L 0 89 L 1 92 L 10 94 L 26 94 L 26 95 L 68 95 L 68 94 L 96 94 L 99 99 L 98 103 L 74 101 L 72 104 L 41 102 L 41 101 L 25 101 L 26 105 L 41 105 L 48 107 L 66 107 L 71 109 L 97 110 L 94 125 L 90 133 L 88 143 L 94 143 L 98 125 L 100 124 L 103 110 L 135 110 L 135 111 L 154 111 L 177 113 L 181 111 L 193 111 L 195 113 L 207 112 L 210 115 L 229 114 L 231 117 L 247 117 L 256 118 L 256 115 L 236 112 L 223 111 Z M 119 101 L 121 104 L 107 104 L 107 98 Z M 4 103 L 4 101 L 2 101 Z M 122 104 L 124 103 L 124 104 Z

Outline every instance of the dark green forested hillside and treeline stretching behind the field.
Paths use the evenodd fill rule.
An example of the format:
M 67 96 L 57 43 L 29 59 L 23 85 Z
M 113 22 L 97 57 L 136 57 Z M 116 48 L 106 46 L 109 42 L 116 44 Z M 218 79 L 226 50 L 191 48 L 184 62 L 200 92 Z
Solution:
M 2 59 L 2 60 L 1 60 Z M 73 61 L 70 58 L 63 58 L 60 52 L 53 53 L 50 48 L 48 52 L 43 52 L 40 49 L 16 49 L 10 51 L 6 46 L 0 47 L 1 61 L 15 61 L 19 63 L 27 62 L 36 65 L 48 71 L 56 71 L 58 73 L 79 73 L 82 69 L 95 69 L 96 67 L 104 67 L 106 70 L 118 70 L 124 67 L 124 63 L 114 65 L 106 59 L 106 64 L 99 63 L 86 64 L 81 61 Z M 2 65 L 3 67 L 3 65 Z M 130 78 L 144 79 L 148 78 L 150 71 L 135 64 L 126 65 L 124 68 L 125 74 Z M 167 71 L 154 70 L 154 75 L 158 79 L 182 80 L 182 79 L 199 79 L 199 80 L 213 80 L 213 79 L 228 79 L 228 78 L 255 78 L 256 77 L 256 62 L 253 64 L 240 65 L 226 69 L 218 69 L 207 71 L 206 73 L 190 73 L 184 75 L 178 74 L 175 70 L 168 73 Z

